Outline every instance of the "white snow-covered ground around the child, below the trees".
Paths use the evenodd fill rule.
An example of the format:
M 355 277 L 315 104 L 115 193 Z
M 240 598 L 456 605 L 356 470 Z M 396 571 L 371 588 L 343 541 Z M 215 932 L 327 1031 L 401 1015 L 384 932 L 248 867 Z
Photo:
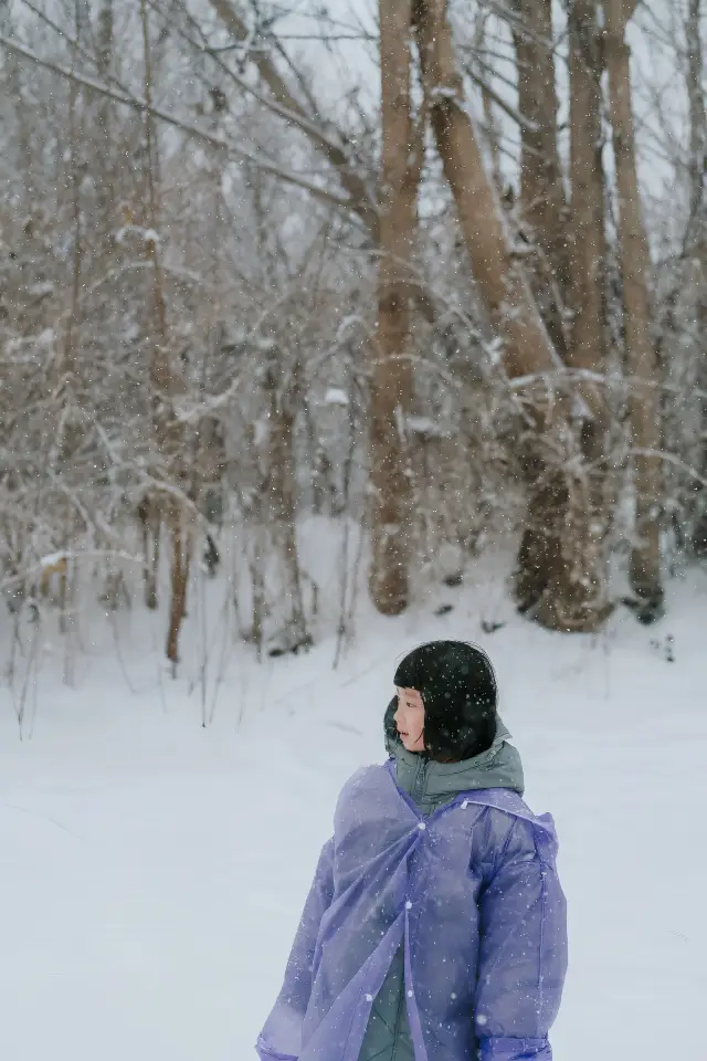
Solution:
M 147 651 L 82 656 L 73 690 L 43 666 L 23 740 L 0 691 L 3 1061 L 254 1058 L 338 788 L 382 758 L 394 661 L 445 635 L 490 652 L 528 801 L 557 819 L 557 1061 L 707 1058 L 707 577 L 597 640 L 515 618 L 490 576 L 442 598 L 444 618 L 367 613 L 336 671 L 331 643 L 241 651 L 207 728 Z

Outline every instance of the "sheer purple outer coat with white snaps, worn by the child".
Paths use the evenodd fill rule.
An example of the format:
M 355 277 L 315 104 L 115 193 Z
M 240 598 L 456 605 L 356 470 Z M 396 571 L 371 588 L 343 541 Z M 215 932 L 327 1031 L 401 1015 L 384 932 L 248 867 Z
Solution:
M 515 792 L 429 818 L 371 766 L 344 787 L 262 1061 L 357 1061 L 401 943 L 415 1061 L 551 1061 L 567 968 L 552 819 Z

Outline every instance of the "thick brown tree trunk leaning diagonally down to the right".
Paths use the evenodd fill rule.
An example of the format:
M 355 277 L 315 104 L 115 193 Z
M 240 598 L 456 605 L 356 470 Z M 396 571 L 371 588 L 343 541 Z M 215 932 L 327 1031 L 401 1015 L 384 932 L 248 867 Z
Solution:
M 570 424 L 569 396 L 555 393 L 563 363 L 555 349 L 530 286 L 514 255 L 500 203 L 486 174 L 473 125 L 463 104 L 446 0 L 418 0 L 415 24 L 432 127 L 445 176 L 457 207 L 474 279 L 489 318 L 503 339 L 508 375 L 539 376 L 526 388 L 537 428 L 525 459 L 530 483 L 529 522 L 542 525 L 547 508 L 561 513 L 561 532 L 539 533 L 519 560 L 534 568 L 542 599 L 535 617 L 557 630 L 597 629 L 606 609 L 597 591 L 597 571 L 588 551 L 592 507 L 581 451 Z M 545 384 L 545 390 L 544 390 Z

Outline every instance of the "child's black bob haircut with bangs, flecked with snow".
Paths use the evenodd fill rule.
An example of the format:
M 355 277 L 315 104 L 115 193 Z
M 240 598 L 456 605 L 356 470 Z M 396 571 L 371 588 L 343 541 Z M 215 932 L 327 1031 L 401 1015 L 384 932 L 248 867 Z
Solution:
M 415 689 L 422 696 L 424 747 L 430 758 L 468 759 L 494 743 L 498 689 L 483 649 L 466 641 L 421 644 L 398 665 L 394 683 L 399 689 Z M 386 732 L 389 738 L 399 739 L 392 706 L 386 712 Z

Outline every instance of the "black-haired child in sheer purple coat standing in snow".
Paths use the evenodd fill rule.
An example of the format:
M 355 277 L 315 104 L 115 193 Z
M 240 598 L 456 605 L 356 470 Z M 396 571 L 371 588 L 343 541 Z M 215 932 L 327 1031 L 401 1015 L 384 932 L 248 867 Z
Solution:
M 551 1061 L 567 968 L 549 815 L 521 796 L 490 661 L 410 652 L 389 760 L 344 786 L 262 1061 Z

